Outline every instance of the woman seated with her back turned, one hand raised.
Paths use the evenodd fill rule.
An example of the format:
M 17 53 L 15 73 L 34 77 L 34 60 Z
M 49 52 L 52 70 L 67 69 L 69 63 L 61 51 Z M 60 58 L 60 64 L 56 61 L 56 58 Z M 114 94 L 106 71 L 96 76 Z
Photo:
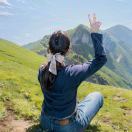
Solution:
M 82 81 L 98 71 L 107 61 L 102 46 L 102 34 L 98 33 L 101 22 L 90 18 L 91 38 L 95 59 L 83 64 L 65 65 L 69 51 L 69 38 L 58 31 L 49 40 L 48 64 L 39 68 L 38 80 L 44 94 L 40 125 L 48 132 L 82 132 L 103 105 L 99 92 L 87 95 L 77 104 L 77 88 Z

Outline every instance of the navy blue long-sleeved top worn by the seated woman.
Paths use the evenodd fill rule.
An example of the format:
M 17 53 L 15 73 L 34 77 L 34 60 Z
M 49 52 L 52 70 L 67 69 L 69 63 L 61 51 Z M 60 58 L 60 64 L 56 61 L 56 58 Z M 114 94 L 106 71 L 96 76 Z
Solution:
M 83 64 L 66 65 L 57 70 L 57 77 L 52 90 L 41 86 L 42 70 L 39 68 L 38 80 L 44 95 L 42 113 L 61 119 L 70 116 L 76 110 L 77 88 L 82 81 L 98 71 L 107 61 L 102 45 L 103 35 L 91 33 L 95 50 L 95 59 Z

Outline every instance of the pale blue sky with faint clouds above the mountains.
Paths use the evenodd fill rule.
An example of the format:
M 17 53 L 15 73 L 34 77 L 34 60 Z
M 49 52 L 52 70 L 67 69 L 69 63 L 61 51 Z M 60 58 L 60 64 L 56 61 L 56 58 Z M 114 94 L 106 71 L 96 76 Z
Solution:
M 0 0 L 0 38 L 23 45 L 56 30 L 89 25 L 96 13 L 101 28 L 132 29 L 132 0 Z

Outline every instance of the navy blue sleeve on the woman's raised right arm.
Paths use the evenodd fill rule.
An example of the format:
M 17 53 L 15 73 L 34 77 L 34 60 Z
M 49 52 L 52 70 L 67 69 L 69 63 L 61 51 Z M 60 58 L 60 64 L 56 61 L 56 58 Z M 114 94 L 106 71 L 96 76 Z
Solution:
M 91 38 L 95 50 L 95 58 L 83 64 L 70 65 L 70 77 L 76 84 L 85 80 L 87 77 L 98 71 L 106 62 L 106 53 L 102 44 L 103 35 L 99 33 L 91 33 Z

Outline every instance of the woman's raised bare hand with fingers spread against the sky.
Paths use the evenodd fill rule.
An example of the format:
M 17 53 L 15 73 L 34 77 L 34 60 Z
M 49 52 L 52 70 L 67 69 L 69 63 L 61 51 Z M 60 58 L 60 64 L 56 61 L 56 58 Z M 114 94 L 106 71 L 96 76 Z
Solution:
M 94 13 L 92 17 L 89 14 L 88 18 L 89 18 L 89 24 L 90 24 L 90 31 L 98 32 L 102 23 L 100 21 L 97 21 L 96 14 Z

